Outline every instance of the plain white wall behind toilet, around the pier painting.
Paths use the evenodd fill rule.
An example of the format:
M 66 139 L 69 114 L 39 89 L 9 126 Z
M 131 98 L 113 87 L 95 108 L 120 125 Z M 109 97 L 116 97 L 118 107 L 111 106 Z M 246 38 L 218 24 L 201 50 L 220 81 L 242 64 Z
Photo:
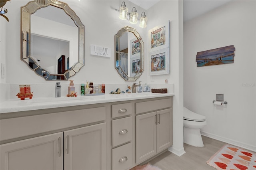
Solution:
M 184 106 L 206 116 L 202 134 L 256 150 L 256 1 L 231 1 L 184 23 Z M 196 67 L 196 53 L 234 45 L 234 63 Z M 224 94 L 224 107 L 214 106 Z

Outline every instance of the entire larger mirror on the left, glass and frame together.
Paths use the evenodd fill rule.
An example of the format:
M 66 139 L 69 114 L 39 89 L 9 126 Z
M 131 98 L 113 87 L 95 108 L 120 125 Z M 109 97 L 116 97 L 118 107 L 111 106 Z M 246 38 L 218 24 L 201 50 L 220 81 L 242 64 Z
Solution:
M 84 65 L 84 25 L 57 0 L 21 8 L 21 59 L 46 80 L 67 80 Z

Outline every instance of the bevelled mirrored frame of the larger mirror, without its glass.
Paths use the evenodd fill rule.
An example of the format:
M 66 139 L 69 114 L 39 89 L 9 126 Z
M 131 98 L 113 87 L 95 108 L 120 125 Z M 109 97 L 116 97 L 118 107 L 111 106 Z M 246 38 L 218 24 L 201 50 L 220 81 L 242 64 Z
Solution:
M 70 18 L 74 21 L 75 25 L 78 27 L 78 62 L 74 63 L 72 67 L 70 67 L 63 74 L 51 74 L 46 69 L 42 68 L 40 64 L 35 61 L 33 57 L 30 57 L 30 38 L 31 38 L 31 30 L 30 24 L 31 19 L 30 15 L 34 14 L 38 9 L 47 7 L 52 5 L 57 8 L 61 8 L 70 16 Z M 34 72 L 44 77 L 46 80 L 68 80 L 71 76 L 75 75 L 83 66 L 84 66 L 84 25 L 80 21 L 80 18 L 76 16 L 76 13 L 68 6 L 68 4 L 64 2 L 60 2 L 58 0 L 34 0 L 28 2 L 25 6 L 21 7 L 21 60 L 27 63 L 28 67 Z M 31 68 L 29 66 L 29 60 L 33 60 L 36 64 L 36 68 Z M 45 76 L 38 74 L 36 71 L 41 70 L 45 73 Z M 53 79 L 53 77 L 59 77 L 60 79 Z

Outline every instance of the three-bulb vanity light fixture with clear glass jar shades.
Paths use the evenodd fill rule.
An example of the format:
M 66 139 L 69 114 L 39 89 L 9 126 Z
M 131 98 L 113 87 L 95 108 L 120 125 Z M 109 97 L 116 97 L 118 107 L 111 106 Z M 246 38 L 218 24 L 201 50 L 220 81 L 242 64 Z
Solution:
M 147 27 L 147 21 L 148 17 L 146 17 L 145 12 L 141 13 L 140 20 L 138 19 L 138 13 L 135 7 L 132 8 L 132 12 L 128 12 L 128 8 L 126 8 L 126 4 L 123 1 L 120 7 L 120 10 L 116 11 L 119 12 L 119 18 L 121 20 L 129 20 L 131 24 L 137 24 L 138 21 L 140 21 L 140 27 L 146 28 Z

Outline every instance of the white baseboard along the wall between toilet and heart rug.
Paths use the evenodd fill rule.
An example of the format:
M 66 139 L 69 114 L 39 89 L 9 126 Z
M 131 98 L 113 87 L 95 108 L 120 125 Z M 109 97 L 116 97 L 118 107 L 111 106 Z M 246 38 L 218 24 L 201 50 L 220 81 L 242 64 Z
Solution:
M 231 140 L 229 138 L 224 138 L 222 136 L 218 136 L 218 135 L 215 135 L 215 134 L 211 134 L 211 133 L 208 133 L 208 132 L 204 132 L 204 131 L 200 131 L 201 134 L 203 136 L 206 136 L 206 137 L 209 137 L 209 138 L 213 138 L 213 139 L 216 139 L 216 140 L 220 140 L 222 142 L 226 142 L 228 144 L 232 144 L 234 146 L 238 146 L 240 148 L 244 148 L 244 149 L 247 149 L 247 150 L 251 150 L 253 152 L 256 152 L 256 146 L 252 146 L 252 145 L 249 145 L 249 144 L 245 144 L 245 143 L 242 143 L 242 142 L 238 142 L 236 140 Z

